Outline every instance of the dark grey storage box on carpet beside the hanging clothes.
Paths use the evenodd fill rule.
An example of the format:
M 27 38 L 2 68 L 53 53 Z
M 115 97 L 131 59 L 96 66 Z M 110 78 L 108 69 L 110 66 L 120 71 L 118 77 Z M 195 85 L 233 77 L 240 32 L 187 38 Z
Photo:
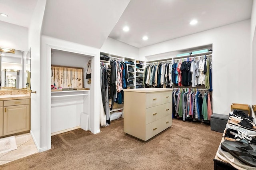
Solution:
M 211 130 L 223 133 L 228 122 L 228 115 L 214 113 L 211 116 Z

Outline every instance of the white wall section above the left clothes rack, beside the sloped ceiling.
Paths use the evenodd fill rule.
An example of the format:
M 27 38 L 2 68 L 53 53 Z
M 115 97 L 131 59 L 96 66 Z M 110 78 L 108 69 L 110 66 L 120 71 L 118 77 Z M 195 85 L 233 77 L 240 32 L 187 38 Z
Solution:
M 102 45 L 101 52 L 111 53 L 115 55 L 120 55 L 123 57 L 128 57 L 132 59 L 138 59 L 139 49 L 132 45 L 114 40 L 112 38 L 107 38 L 107 40 Z

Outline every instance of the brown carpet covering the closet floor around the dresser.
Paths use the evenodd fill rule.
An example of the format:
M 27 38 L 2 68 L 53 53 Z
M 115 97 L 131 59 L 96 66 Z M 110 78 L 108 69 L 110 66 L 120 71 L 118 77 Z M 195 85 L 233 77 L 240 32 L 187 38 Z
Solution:
M 209 125 L 173 120 L 171 128 L 143 142 L 123 132 L 123 119 L 98 134 L 82 129 L 52 136 L 52 149 L 0 169 L 12 170 L 213 170 L 222 133 Z

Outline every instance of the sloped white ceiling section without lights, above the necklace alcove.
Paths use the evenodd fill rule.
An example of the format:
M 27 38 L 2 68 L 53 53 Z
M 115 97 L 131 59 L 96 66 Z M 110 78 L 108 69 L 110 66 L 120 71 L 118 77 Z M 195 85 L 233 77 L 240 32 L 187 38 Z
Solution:
M 130 0 L 47 0 L 42 34 L 101 48 Z

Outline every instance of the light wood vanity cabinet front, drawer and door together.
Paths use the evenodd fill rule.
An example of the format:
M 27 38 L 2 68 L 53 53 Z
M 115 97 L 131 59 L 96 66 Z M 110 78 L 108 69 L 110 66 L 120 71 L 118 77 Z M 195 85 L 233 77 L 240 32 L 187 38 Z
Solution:
M 6 100 L 3 103 L 3 136 L 29 131 L 30 99 Z

